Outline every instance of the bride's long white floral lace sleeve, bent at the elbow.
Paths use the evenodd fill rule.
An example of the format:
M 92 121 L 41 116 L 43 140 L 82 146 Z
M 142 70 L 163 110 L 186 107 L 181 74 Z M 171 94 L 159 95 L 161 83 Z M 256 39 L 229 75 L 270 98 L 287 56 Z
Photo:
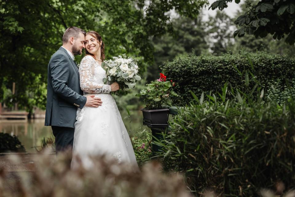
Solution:
M 79 66 L 81 90 L 88 93 L 110 93 L 111 86 L 93 82 L 95 60 L 91 56 L 85 56 Z

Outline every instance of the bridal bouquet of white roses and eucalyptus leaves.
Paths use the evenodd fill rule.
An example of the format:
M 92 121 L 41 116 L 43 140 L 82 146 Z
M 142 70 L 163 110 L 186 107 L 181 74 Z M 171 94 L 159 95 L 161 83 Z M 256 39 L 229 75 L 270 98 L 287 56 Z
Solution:
M 122 57 L 123 56 L 123 57 Z M 111 60 L 102 62 L 101 67 L 105 70 L 107 77 L 103 78 L 104 84 L 117 82 L 123 90 L 129 90 L 135 87 L 136 82 L 141 80 L 138 75 L 138 65 L 132 57 L 123 54 L 119 57 L 113 57 Z

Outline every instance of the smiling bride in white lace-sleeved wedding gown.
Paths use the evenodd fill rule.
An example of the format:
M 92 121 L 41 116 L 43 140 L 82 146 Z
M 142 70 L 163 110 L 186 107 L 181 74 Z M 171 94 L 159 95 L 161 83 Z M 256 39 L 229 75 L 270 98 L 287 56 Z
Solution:
M 78 108 L 75 123 L 73 155 L 78 155 L 84 167 L 91 167 L 89 156 L 107 155 L 138 167 L 133 147 L 122 121 L 120 112 L 111 91 L 119 89 L 117 82 L 105 85 L 106 77 L 101 62 L 104 60 L 104 43 L 95 31 L 85 36 L 86 56 L 79 66 L 80 86 L 84 96 L 94 94 L 101 98 L 102 106 L 98 108 Z M 77 165 L 73 157 L 72 167 Z

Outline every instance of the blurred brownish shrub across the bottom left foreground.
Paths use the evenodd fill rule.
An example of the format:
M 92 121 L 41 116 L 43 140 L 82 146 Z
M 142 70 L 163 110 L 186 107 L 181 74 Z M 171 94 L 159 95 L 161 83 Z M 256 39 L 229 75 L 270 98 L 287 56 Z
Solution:
M 78 166 L 73 170 L 69 167 L 70 155 L 59 154 L 56 161 L 48 155 L 37 157 L 35 170 L 29 174 L 22 172 L 20 177 L 5 176 L 0 168 L 0 196 L 191 197 L 183 176 L 165 175 L 159 163 L 148 163 L 140 173 L 135 173 L 129 164 L 93 157 L 92 168 Z

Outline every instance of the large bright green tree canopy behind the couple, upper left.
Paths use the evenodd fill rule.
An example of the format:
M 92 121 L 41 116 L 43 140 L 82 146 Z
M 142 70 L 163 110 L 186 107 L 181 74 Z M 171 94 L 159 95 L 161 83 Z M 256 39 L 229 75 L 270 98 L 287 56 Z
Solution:
M 69 26 L 98 31 L 106 44 L 107 59 L 126 53 L 137 57 L 144 72 L 147 63 L 153 61 L 149 38 L 165 34 L 170 28 L 170 16 L 165 13 L 175 9 L 185 17 L 195 18 L 206 3 L 206 0 L 151 1 L 145 6 L 143 1 L 133 0 L 1 1 L 0 83 L 11 89 L 15 82 L 13 103 L 23 101 L 21 107 L 32 111 L 32 103 L 39 101 L 31 101 L 32 97 L 27 98 L 26 94 L 35 94 L 30 86 L 39 75 L 40 84 L 46 83 L 49 59 L 61 46 L 61 37 Z M 79 62 L 81 57 L 76 59 Z M 26 98 L 22 98 L 24 95 Z M 0 100 L 2 98 L 1 88 Z

